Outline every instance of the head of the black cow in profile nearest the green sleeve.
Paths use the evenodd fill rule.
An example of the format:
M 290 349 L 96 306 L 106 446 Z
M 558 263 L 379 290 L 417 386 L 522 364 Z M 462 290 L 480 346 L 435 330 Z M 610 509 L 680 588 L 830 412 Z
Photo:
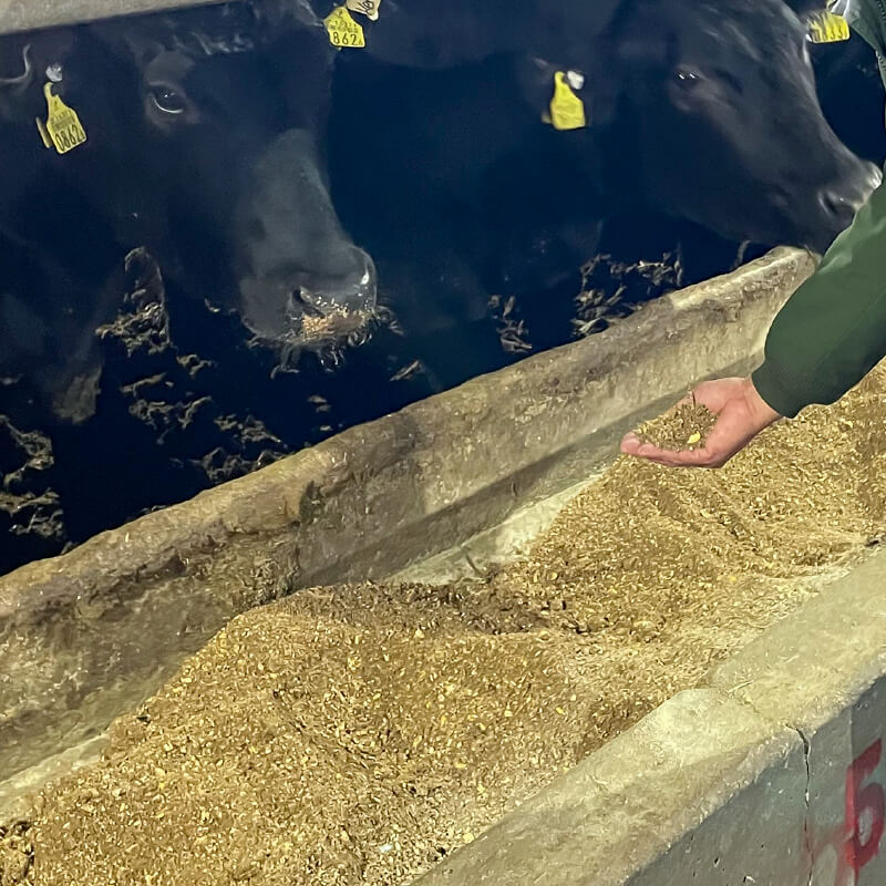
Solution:
M 642 189 L 664 210 L 822 250 L 878 183 L 826 123 L 783 0 L 636 0 L 610 47 Z

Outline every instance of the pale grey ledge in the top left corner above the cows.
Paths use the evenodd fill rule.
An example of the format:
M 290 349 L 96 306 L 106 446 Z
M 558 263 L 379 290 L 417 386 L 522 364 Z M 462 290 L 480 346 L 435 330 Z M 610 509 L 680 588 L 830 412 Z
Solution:
M 220 2 L 224 0 L 0 0 L 0 34 Z

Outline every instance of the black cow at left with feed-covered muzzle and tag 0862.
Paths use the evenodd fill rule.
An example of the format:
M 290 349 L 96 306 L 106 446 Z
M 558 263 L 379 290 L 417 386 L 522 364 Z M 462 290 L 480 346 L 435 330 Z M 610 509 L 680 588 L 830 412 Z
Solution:
M 93 331 L 119 293 L 105 284 L 143 245 L 167 279 L 287 352 L 359 330 L 375 306 L 374 267 L 341 229 L 324 179 L 332 52 L 318 23 L 253 4 L 7 41 L 18 73 L 0 84 L 0 150 L 17 174 L 0 184 L 0 233 L 71 285 L 41 286 L 37 299 L 27 280 L 0 285 L 3 326 L 41 330 L 0 370 L 27 374 L 30 360 L 38 399 L 87 415 L 87 403 L 58 408 L 73 384 L 59 370 L 71 375 L 73 350 L 78 378 L 94 378 Z M 34 125 L 50 135 L 47 90 L 86 135 L 63 153 Z

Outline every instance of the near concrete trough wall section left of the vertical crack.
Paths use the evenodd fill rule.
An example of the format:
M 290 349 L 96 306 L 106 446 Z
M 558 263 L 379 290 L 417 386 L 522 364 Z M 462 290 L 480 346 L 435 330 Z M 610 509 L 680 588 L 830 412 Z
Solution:
M 796 732 L 712 690 L 681 692 L 609 742 L 418 886 L 638 886 L 713 883 L 806 886 L 791 874 L 803 854 L 806 767 Z M 777 793 L 783 804 L 773 807 Z M 715 843 L 680 845 L 719 808 L 734 814 Z M 722 837 L 723 831 L 720 831 Z M 744 839 L 770 847 L 749 853 Z M 785 858 L 784 878 L 767 864 Z M 774 872 L 773 872 L 774 873 Z M 756 878 L 759 877 L 759 879 Z

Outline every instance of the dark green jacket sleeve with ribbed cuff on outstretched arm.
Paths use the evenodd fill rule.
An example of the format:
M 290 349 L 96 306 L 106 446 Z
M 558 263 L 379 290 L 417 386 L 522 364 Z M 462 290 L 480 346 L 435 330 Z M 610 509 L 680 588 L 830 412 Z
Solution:
M 763 400 L 793 418 L 830 404 L 886 357 L 886 183 L 785 302 L 753 374 Z

